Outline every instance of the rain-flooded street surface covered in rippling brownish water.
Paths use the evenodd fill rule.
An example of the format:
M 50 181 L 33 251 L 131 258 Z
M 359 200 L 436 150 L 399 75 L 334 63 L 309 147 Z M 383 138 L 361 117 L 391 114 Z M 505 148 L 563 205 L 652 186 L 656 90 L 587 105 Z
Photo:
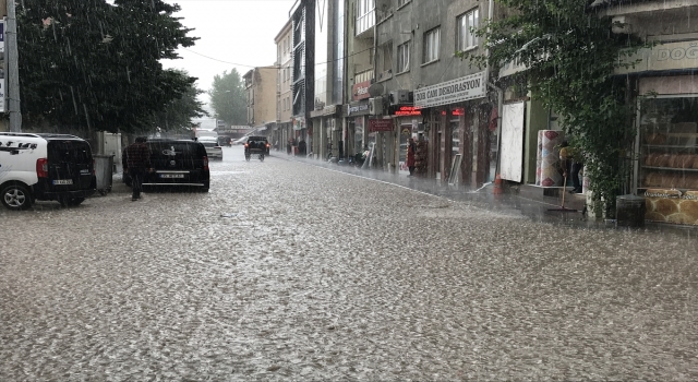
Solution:
M 0 380 L 698 379 L 696 239 L 225 155 L 0 211 Z

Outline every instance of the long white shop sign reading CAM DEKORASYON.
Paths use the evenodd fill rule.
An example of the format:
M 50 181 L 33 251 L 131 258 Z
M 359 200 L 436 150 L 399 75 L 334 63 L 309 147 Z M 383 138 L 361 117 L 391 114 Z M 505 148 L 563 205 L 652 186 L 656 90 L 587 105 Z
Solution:
M 414 106 L 434 107 L 484 96 L 484 72 L 480 72 L 414 91 Z

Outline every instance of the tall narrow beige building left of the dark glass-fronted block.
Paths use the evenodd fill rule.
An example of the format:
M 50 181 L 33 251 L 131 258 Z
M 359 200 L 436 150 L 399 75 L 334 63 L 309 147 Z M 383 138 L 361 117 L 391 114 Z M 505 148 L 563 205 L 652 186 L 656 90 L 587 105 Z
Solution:
M 274 38 L 276 44 L 276 62 L 278 67 L 276 75 L 276 130 L 274 143 L 279 144 L 279 150 L 286 150 L 286 142 L 296 139 L 291 117 L 293 92 L 291 88 L 293 72 L 293 43 L 291 21 L 289 20 Z

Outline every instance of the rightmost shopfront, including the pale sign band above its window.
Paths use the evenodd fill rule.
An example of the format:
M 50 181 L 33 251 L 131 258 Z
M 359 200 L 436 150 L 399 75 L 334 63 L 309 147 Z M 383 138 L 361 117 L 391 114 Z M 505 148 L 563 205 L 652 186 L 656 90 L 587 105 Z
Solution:
M 698 40 L 640 50 L 635 68 L 636 191 L 647 220 L 698 225 Z

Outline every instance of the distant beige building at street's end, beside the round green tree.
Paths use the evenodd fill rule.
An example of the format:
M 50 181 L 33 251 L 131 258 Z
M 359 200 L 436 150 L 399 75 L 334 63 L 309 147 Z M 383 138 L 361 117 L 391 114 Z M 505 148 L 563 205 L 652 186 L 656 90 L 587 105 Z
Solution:
M 254 68 L 243 75 L 248 95 L 248 124 L 269 134 L 276 124 L 276 67 Z

